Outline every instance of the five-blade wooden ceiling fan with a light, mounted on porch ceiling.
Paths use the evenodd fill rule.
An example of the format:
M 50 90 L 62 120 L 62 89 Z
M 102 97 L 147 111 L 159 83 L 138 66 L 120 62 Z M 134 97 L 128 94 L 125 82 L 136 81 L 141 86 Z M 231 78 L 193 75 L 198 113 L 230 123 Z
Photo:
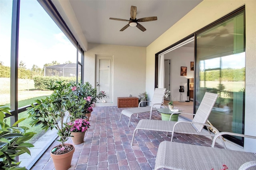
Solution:
M 126 28 L 128 28 L 129 26 L 131 27 L 137 27 L 138 29 L 142 30 L 143 32 L 146 31 L 146 28 L 144 28 L 144 26 L 142 26 L 141 24 L 139 24 L 138 22 L 147 22 L 147 21 L 155 21 L 157 20 L 156 16 L 151 16 L 151 17 L 145 17 L 145 18 L 140 18 L 140 19 L 136 19 L 136 14 L 137 14 L 137 7 L 136 6 L 131 6 L 131 18 L 130 20 L 125 20 L 125 19 L 119 19 L 119 18 L 109 18 L 110 20 L 118 20 L 118 21 L 128 21 L 129 23 L 124 26 L 120 31 L 124 31 Z

